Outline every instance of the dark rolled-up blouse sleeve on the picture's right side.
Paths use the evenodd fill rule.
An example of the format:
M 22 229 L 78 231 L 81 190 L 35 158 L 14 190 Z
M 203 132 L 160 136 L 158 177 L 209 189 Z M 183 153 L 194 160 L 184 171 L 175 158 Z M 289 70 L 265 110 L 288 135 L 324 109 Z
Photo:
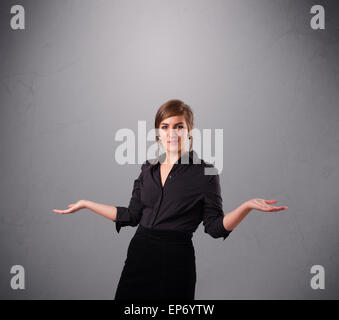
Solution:
M 204 186 L 203 193 L 203 225 L 205 233 L 213 238 L 221 238 L 225 240 L 232 230 L 225 229 L 223 225 L 224 212 L 222 207 L 222 197 L 220 188 L 219 175 L 211 175 L 208 182 Z

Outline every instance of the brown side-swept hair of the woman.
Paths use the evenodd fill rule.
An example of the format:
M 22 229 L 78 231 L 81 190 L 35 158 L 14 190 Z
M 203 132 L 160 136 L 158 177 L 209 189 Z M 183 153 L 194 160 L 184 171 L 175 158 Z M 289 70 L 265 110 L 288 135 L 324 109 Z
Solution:
M 158 109 L 157 114 L 155 115 L 154 127 L 155 129 L 159 129 L 160 123 L 164 119 L 182 115 L 185 117 L 185 121 L 188 126 L 188 132 L 190 132 L 193 129 L 194 125 L 194 118 L 191 107 L 178 99 L 168 100 Z M 191 151 L 193 147 L 193 137 L 190 135 L 189 138 L 191 140 L 189 151 Z M 158 135 L 156 135 L 155 139 L 157 140 L 157 142 L 159 142 Z

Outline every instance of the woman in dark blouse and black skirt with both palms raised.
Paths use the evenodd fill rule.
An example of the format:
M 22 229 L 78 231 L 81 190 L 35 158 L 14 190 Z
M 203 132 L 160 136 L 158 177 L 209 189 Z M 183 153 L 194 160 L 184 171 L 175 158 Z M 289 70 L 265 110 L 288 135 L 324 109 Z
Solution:
M 128 207 L 80 200 L 67 210 L 53 210 L 90 209 L 115 221 L 117 232 L 124 226 L 139 225 L 128 247 L 116 300 L 194 300 L 192 234 L 201 222 L 206 233 L 225 240 L 252 209 L 287 209 L 272 206 L 276 200 L 251 199 L 223 214 L 219 175 L 216 171 L 205 174 L 206 168 L 213 170 L 214 166 L 192 150 L 193 113 L 184 102 L 163 104 L 155 117 L 155 129 L 156 140 L 166 152 L 142 164 Z

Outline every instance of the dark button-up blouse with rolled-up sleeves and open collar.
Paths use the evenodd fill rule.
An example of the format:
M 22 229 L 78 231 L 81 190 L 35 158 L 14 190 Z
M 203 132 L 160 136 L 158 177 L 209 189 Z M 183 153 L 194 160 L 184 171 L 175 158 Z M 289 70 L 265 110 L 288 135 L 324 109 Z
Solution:
M 142 226 L 153 229 L 178 230 L 191 236 L 203 222 L 204 232 L 225 240 L 232 230 L 223 225 L 220 179 L 214 165 L 199 159 L 192 150 L 184 153 L 172 166 L 164 187 L 161 184 L 160 163 L 166 154 L 146 160 L 134 180 L 128 207 L 117 206 L 116 230 Z M 205 174 L 212 168 L 214 174 Z

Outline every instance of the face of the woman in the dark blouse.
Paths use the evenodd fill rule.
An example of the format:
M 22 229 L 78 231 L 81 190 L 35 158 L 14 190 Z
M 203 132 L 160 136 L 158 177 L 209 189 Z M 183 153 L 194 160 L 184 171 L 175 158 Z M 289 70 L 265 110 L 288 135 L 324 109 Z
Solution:
M 160 141 L 167 152 L 185 152 L 185 146 L 189 141 L 188 134 L 188 126 L 184 116 L 169 117 L 160 123 Z

